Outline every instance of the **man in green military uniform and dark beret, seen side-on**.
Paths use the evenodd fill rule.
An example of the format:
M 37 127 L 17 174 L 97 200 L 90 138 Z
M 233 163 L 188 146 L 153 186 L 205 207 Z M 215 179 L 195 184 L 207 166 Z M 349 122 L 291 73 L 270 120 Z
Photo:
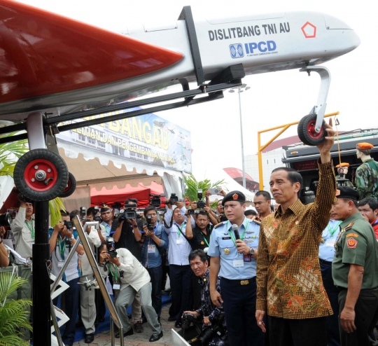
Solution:
M 341 345 L 372 345 L 378 321 L 378 250 L 372 226 L 358 212 L 358 192 L 339 187 L 332 214 L 342 221 L 332 277 L 339 289 Z

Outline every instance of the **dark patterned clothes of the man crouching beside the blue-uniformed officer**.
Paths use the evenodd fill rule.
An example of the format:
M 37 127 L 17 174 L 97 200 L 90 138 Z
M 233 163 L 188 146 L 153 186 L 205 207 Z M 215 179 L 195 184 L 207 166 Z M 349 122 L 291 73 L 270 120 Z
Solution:
M 204 277 L 200 277 L 198 282 L 201 285 L 201 300 L 202 305 L 200 309 L 197 311 L 200 312 L 202 317 L 209 316 L 209 320 L 211 321 L 211 324 L 214 326 L 216 324 L 221 324 L 223 329 L 226 331 L 225 335 L 223 335 L 221 338 L 216 337 L 211 339 L 209 342 L 209 346 L 227 346 L 228 344 L 228 338 L 227 338 L 227 329 L 225 324 L 225 312 L 223 310 L 223 307 L 217 307 L 213 304 L 210 297 L 210 289 L 209 289 L 209 275 L 210 270 L 208 269 Z M 216 280 L 216 290 L 221 293 L 221 279 L 218 277 Z M 207 328 L 206 326 L 202 327 Z

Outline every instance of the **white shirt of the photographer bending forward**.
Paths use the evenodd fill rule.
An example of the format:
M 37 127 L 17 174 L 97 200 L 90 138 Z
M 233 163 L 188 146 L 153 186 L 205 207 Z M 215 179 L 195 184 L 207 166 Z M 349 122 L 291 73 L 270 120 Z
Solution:
M 122 291 L 127 286 L 132 286 L 135 291 L 139 291 L 145 284 L 151 281 L 150 275 L 146 268 L 132 256 L 132 253 L 127 249 L 117 249 L 118 258 L 120 260 L 120 265 L 118 266 L 118 277 L 120 277 L 120 272 L 123 270 L 123 277 L 120 277 L 120 290 Z M 115 265 L 112 264 L 113 271 Z M 103 277 L 109 274 L 109 270 L 104 272 L 101 268 L 100 272 Z

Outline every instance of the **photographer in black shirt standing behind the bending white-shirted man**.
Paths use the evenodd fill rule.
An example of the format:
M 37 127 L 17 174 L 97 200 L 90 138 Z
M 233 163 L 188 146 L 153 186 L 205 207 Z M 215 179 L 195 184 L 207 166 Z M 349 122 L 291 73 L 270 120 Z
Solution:
M 127 219 L 125 214 L 127 212 L 135 212 L 137 210 L 138 200 L 129 198 L 125 200 L 124 212 L 120 213 L 116 219 L 113 220 L 111 233 L 115 242 L 115 249 L 127 249 L 132 253 L 132 256 L 141 262 L 141 229 L 143 228 L 143 221 L 141 219 Z M 131 207 L 132 206 L 132 207 Z M 109 277 L 110 278 L 110 277 Z M 141 303 L 139 295 L 132 304 L 132 324 L 134 324 L 137 333 L 143 333 Z

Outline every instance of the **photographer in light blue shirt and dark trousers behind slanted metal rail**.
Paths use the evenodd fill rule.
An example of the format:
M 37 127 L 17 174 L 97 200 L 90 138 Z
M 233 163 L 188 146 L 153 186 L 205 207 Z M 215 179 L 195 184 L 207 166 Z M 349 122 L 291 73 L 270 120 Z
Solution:
M 69 256 L 71 248 L 78 240 L 78 233 L 73 229 L 73 223 L 69 214 L 60 211 L 62 221 L 55 225 L 55 228 L 50 228 L 50 254 L 53 275 L 59 275 L 59 271 L 64 265 L 65 259 Z M 64 345 L 69 346 L 73 344 L 76 331 L 76 316 L 78 314 L 79 303 L 79 278 L 81 276 L 79 254 L 84 254 L 83 245 L 79 245 L 76 249 L 76 254 L 73 255 L 71 261 L 64 271 L 62 280 L 69 285 L 69 288 L 62 293 L 65 298 L 64 312 L 69 317 L 69 321 L 66 323 L 66 329 L 62 335 Z M 54 305 L 57 305 L 57 298 L 54 300 Z

